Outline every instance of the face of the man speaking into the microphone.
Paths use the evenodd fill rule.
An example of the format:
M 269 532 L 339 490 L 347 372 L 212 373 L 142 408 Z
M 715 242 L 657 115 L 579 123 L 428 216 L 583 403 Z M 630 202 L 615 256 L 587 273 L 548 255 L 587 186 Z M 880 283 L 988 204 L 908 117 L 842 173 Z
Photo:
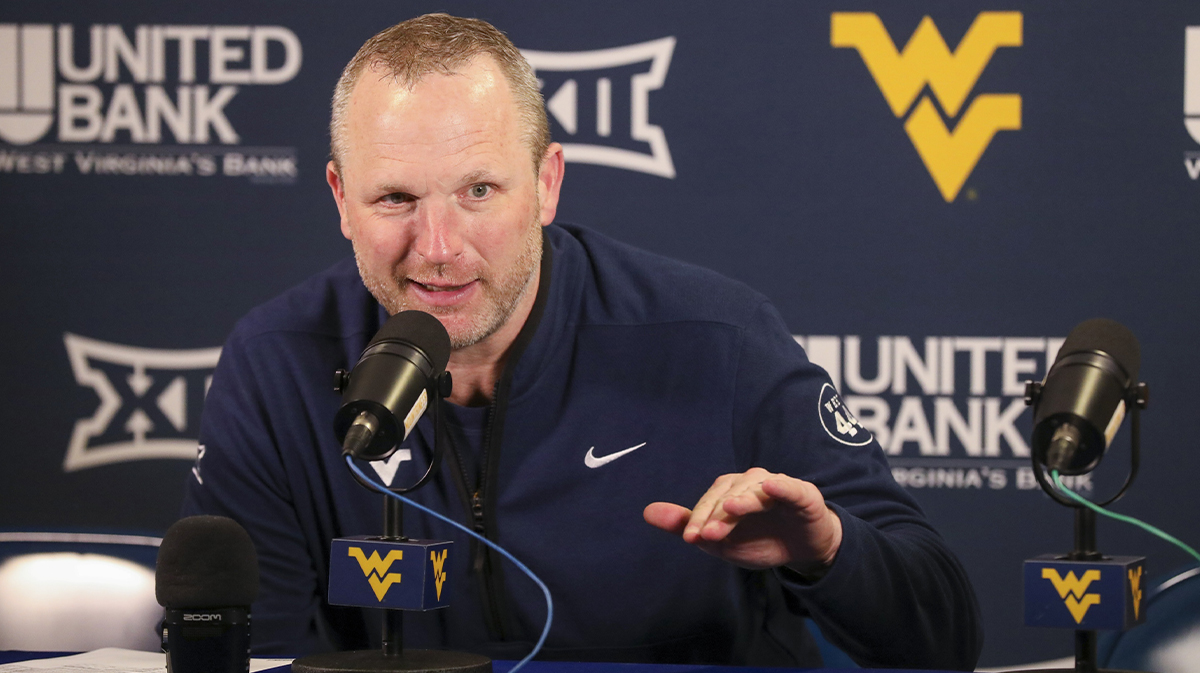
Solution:
M 347 109 L 341 175 L 326 172 L 367 289 L 389 313 L 437 316 L 455 348 L 533 301 L 562 148 L 539 175 L 521 132 L 490 56 L 410 90 L 368 67 Z

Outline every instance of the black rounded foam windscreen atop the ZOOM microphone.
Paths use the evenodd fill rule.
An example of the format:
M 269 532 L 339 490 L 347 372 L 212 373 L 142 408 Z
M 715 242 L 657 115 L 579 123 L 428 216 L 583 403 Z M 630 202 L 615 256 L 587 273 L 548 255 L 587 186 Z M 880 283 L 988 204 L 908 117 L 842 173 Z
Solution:
M 166 608 L 248 606 L 258 596 L 258 554 L 238 522 L 190 516 L 158 547 L 155 597 Z

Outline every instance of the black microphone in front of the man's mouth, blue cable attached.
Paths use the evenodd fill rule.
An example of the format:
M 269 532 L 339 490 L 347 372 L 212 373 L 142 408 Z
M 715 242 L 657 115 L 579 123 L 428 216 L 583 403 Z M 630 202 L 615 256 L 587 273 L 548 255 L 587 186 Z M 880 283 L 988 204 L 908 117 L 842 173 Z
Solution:
M 371 338 L 349 373 L 338 369 L 342 408 L 334 432 L 342 450 L 383 461 L 408 437 L 430 404 L 427 390 L 450 361 L 450 335 L 422 311 L 402 311 Z

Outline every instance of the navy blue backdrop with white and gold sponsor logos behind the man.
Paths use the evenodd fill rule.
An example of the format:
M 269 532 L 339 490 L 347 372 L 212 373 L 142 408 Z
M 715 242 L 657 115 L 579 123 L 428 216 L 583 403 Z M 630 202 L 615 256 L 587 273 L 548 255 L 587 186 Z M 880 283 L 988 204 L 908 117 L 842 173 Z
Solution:
M 984 663 L 1072 651 L 1021 626 L 1021 560 L 1067 551 L 1072 516 L 1032 482 L 1020 381 L 1076 323 L 1128 325 L 1152 386 L 1117 509 L 1196 541 L 1184 0 L 6 4 L 0 525 L 173 521 L 233 323 L 349 254 L 324 181 L 341 68 L 434 10 L 529 52 L 560 221 L 774 300 L 964 559 Z M 1114 446 L 1085 494 L 1120 483 Z M 1184 561 L 1108 522 L 1099 543 Z

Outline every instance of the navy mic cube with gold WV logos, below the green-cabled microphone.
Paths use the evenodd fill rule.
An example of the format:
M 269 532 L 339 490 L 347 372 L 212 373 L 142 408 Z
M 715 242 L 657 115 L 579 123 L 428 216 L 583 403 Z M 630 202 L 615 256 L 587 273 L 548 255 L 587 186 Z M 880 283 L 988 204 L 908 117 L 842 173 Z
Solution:
M 1123 631 L 1145 615 L 1145 557 L 1025 561 L 1025 625 Z

